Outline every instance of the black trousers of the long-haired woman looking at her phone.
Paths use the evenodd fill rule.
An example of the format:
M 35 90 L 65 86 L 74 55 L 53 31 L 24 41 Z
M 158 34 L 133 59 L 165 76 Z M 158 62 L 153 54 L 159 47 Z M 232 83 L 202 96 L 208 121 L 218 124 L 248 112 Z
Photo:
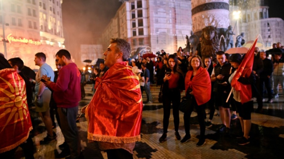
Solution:
M 173 103 L 173 123 L 175 125 L 175 131 L 179 131 L 179 104 L 180 104 L 180 90 L 170 89 L 163 92 L 163 132 L 168 132 L 169 116 L 171 112 L 171 103 Z

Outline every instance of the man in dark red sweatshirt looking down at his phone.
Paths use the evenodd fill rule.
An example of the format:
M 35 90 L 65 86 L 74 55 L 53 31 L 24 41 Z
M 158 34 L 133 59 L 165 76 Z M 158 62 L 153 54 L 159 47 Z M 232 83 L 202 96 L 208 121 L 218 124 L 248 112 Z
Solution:
M 76 64 L 71 60 L 67 50 L 59 50 L 56 53 L 56 61 L 63 66 L 60 69 L 56 83 L 48 81 L 43 76 L 47 87 L 53 90 L 53 98 L 57 104 L 57 111 L 60 118 L 61 131 L 69 148 L 64 148 L 56 158 L 64 158 L 71 155 L 72 159 L 79 158 L 81 146 L 79 132 L 76 126 L 78 104 L 81 99 L 80 80 L 81 74 Z

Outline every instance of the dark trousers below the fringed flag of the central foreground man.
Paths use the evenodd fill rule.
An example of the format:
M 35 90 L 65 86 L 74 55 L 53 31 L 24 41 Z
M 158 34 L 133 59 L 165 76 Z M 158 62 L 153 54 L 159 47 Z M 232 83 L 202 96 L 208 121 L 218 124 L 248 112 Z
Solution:
M 119 148 L 119 149 L 109 149 L 106 150 L 108 159 L 133 159 L 133 154 L 130 152 Z

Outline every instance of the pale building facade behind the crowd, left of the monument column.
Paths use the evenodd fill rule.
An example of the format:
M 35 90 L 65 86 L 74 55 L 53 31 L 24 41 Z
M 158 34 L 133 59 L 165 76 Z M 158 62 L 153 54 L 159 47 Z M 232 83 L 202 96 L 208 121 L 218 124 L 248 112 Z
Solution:
M 190 0 L 129 0 L 124 2 L 102 33 L 106 48 L 111 37 L 126 39 L 132 50 L 151 47 L 173 54 L 185 47 L 192 30 Z

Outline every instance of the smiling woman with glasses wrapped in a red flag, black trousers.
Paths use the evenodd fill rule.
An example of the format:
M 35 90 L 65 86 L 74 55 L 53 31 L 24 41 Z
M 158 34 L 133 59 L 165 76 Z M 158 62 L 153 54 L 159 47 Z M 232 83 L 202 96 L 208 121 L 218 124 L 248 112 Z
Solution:
M 185 78 L 186 93 L 192 95 L 192 102 L 186 108 L 183 120 L 186 135 L 180 141 L 186 143 L 191 138 L 190 136 L 190 115 L 195 108 L 197 110 L 198 122 L 200 125 L 200 136 L 196 146 L 201 147 L 205 144 L 205 106 L 211 97 L 211 80 L 206 69 L 202 68 L 202 61 L 199 56 L 193 56 L 189 61 L 189 71 Z

